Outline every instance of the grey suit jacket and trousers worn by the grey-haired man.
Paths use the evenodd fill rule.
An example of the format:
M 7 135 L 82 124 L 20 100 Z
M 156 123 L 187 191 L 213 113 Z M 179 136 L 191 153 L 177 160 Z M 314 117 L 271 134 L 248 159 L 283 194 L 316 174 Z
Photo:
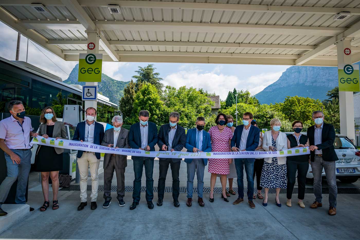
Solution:
M 120 129 L 116 144 L 114 144 L 114 129 L 105 131 L 101 145 L 108 146 L 114 144 L 118 148 L 130 148 L 128 142 L 129 130 Z M 104 156 L 104 199 L 111 200 L 111 181 L 116 172 L 117 179 L 117 199 L 122 200 L 125 196 L 125 168 L 127 166 L 127 156 L 118 154 L 105 154 Z

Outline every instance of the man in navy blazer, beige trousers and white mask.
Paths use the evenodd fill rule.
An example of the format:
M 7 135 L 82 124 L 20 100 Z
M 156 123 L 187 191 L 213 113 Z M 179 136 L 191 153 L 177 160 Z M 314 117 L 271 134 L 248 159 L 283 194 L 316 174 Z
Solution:
M 75 141 L 94 143 L 101 145 L 104 138 L 104 126 L 96 123 L 96 109 L 93 107 L 86 108 L 86 121 L 77 124 L 74 137 Z M 77 165 L 80 173 L 80 199 L 81 203 L 77 210 L 82 210 L 87 205 L 87 176 L 91 174 L 91 210 L 97 208 L 96 199 L 98 197 L 99 188 L 99 164 L 100 153 L 91 151 L 77 151 Z

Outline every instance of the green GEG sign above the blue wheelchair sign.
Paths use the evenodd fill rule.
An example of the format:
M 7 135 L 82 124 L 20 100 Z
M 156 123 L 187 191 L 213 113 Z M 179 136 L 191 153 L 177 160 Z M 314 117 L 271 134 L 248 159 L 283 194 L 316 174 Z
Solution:
M 101 82 L 103 54 L 79 54 L 79 82 Z

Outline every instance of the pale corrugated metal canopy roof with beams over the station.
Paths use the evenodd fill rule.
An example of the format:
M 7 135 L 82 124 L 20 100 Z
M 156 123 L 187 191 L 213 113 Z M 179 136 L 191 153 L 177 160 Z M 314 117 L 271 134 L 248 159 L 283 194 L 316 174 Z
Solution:
M 337 66 L 344 37 L 360 61 L 359 0 L 37 0 L 42 13 L 33 2 L 0 0 L 0 21 L 66 61 L 94 30 L 103 61 Z

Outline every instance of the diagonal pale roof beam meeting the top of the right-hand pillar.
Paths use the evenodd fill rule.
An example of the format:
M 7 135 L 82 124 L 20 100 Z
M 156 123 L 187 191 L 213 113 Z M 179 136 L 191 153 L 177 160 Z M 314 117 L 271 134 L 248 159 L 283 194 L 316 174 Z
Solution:
M 295 65 L 303 65 L 310 59 L 315 58 L 316 56 L 321 55 L 322 53 L 332 49 L 333 46 L 336 44 L 336 42 L 340 41 L 344 37 L 355 37 L 359 34 L 360 34 L 360 22 L 358 22 L 354 26 L 348 28 L 346 31 L 342 32 L 341 34 L 330 38 L 325 43 L 321 44 L 314 50 L 311 50 L 310 52 L 306 53 L 299 59 L 296 59 Z

